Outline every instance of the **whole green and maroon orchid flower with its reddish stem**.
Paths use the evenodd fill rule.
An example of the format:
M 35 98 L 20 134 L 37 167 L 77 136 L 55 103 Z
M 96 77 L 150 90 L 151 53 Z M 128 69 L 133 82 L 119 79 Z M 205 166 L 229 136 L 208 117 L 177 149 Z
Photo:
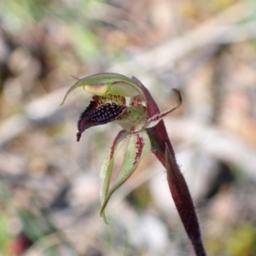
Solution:
M 114 122 L 123 128 L 108 149 L 100 172 L 101 216 L 105 222 L 107 223 L 105 208 L 111 195 L 131 177 L 143 156 L 151 151 L 166 168 L 173 201 L 196 255 L 206 255 L 195 207 L 187 183 L 177 166 L 172 143 L 163 122 L 166 114 L 181 105 L 180 93 L 174 90 L 177 95 L 177 105 L 160 113 L 153 97 L 138 79 L 135 77 L 129 79 L 117 73 L 101 73 L 79 79 L 67 91 L 61 105 L 77 87 L 83 87 L 86 92 L 93 95 L 89 106 L 79 118 L 78 141 L 82 133 L 91 126 Z M 125 141 L 127 148 L 124 160 L 117 177 L 112 181 L 113 161 Z

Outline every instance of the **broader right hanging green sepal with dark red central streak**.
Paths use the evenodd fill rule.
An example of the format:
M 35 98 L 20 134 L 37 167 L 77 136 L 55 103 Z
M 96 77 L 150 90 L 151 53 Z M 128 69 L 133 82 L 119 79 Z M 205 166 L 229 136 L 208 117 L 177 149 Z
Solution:
M 143 158 L 145 154 L 151 149 L 150 140 L 148 137 L 147 131 L 140 131 L 137 133 L 131 133 L 131 137 L 129 139 L 129 143 L 127 145 L 127 149 L 125 152 L 125 157 L 123 160 L 123 164 L 119 171 L 118 177 L 113 183 L 112 188 L 108 191 L 108 195 L 104 196 L 104 200 L 102 201 L 101 215 L 105 217 L 105 208 L 108 204 L 108 200 L 110 196 L 116 189 L 125 183 L 125 181 L 131 177 L 131 174 L 135 172 L 140 160 Z M 113 166 L 113 163 L 112 163 Z M 108 182 L 109 186 L 109 182 Z M 105 190 L 106 191 L 106 190 Z

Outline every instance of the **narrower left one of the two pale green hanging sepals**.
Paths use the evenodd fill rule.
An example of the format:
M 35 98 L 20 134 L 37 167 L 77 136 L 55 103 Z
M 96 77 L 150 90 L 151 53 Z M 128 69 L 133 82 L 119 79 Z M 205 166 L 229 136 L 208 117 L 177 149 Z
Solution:
M 112 171 L 113 171 L 113 160 L 116 154 L 118 154 L 119 149 L 125 142 L 125 138 L 128 136 L 128 132 L 126 131 L 120 131 L 118 136 L 114 139 L 113 145 L 111 148 L 108 149 L 108 153 L 103 160 L 102 163 L 102 168 L 100 171 L 100 199 L 101 199 L 101 204 L 103 205 L 104 201 L 106 201 L 107 195 L 108 195 L 108 189 L 109 189 L 109 183 L 111 180 L 112 176 Z M 105 218 L 104 214 L 103 215 L 105 223 L 107 222 L 107 219 Z

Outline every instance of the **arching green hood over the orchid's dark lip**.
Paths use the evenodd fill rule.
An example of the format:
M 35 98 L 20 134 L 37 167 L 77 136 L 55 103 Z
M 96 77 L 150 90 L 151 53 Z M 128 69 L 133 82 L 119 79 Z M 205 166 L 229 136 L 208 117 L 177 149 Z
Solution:
M 141 90 L 132 79 L 118 73 L 99 73 L 84 79 L 79 79 L 77 83 L 73 84 L 73 86 L 67 91 L 66 96 L 64 96 L 61 105 L 64 104 L 67 96 L 73 90 L 81 86 L 84 87 L 85 91 L 98 96 L 112 94 L 133 97 L 140 95 L 143 99 L 145 98 L 143 90 Z

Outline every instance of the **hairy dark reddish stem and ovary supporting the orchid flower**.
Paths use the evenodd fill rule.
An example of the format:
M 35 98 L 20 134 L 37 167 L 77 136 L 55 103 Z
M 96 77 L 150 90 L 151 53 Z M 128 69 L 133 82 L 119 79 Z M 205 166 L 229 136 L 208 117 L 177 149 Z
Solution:
M 141 87 L 147 101 L 148 118 L 160 113 L 148 89 L 135 77 L 133 81 Z M 167 181 L 172 193 L 177 212 L 183 222 L 183 226 L 189 236 L 197 256 L 206 256 L 207 253 L 201 240 L 201 231 L 195 213 L 195 207 L 189 193 L 188 185 L 177 166 L 172 143 L 167 135 L 166 126 L 161 120 L 158 125 L 148 129 L 148 136 L 152 144 L 152 152 L 166 168 Z

